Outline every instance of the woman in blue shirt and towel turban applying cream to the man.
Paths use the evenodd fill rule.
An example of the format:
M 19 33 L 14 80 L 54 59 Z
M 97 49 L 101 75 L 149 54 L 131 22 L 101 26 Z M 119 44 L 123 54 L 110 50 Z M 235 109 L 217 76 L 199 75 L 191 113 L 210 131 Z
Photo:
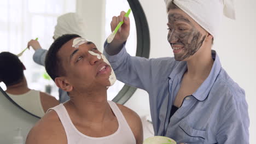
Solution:
M 167 40 L 173 57 L 131 57 L 125 50 L 130 22 L 125 12 L 113 17 L 112 30 L 124 20 L 104 53 L 117 79 L 149 93 L 155 135 L 177 143 L 249 143 L 245 91 L 222 68 L 211 50 L 229 2 L 166 1 Z M 223 47 L 224 49 L 224 47 Z

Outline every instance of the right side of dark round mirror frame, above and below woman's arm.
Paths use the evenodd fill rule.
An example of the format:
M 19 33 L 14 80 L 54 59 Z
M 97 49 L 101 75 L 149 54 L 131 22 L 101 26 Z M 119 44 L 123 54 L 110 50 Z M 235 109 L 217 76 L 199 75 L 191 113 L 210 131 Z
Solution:
M 146 15 L 143 11 L 141 3 L 138 0 L 127 0 L 136 24 L 136 33 L 137 33 L 137 50 L 136 56 L 149 58 L 150 51 L 150 36 L 148 21 Z M 137 88 L 131 87 L 129 85 L 124 85 L 124 87 L 119 91 L 117 96 L 112 100 L 118 104 L 125 104 L 127 100 L 131 98 L 133 93 L 135 93 Z

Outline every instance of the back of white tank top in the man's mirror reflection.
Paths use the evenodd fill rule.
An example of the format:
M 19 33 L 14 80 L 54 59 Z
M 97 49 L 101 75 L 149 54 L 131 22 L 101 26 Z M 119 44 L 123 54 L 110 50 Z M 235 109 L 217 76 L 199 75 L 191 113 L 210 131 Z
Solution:
M 39 91 L 31 89 L 31 91 L 28 91 L 24 94 L 7 94 L 13 101 L 15 101 L 16 104 L 21 106 L 26 111 L 38 117 L 44 116 L 44 109 L 41 104 Z

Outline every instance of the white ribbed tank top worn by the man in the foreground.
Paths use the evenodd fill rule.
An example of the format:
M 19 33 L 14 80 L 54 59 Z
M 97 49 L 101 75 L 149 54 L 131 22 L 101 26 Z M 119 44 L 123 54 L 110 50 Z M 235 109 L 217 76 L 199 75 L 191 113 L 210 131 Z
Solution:
M 74 124 L 72 123 L 63 104 L 57 105 L 49 110 L 55 110 L 57 112 L 57 115 L 59 116 L 60 121 L 65 129 L 68 144 L 136 144 L 136 140 L 130 129 L 130 126 L 126 122 L 126 119 L 117 104 L 115 104 L 113 101 L 108 101 L 108 104 L 114 112 L 115 117 L 117 117 L 119 126 L 115 133 L 104 137 L 90 137 L 78 131 L 78 129 L 75 128 Z

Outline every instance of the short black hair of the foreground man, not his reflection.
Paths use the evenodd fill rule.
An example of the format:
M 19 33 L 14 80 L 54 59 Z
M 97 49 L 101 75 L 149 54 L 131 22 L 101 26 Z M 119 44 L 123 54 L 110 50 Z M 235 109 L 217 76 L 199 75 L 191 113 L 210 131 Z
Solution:
M 65 75 L 65 70 L 61 64 L 61 58 L 57 57 L 57 52 L 61 47 L 73 38 L 80 38 L 77 34 L 63 34 L 51 44 L 49 51 L 45 57 L 45 69 L 51 79 L 55 80 L 56 77 Z

